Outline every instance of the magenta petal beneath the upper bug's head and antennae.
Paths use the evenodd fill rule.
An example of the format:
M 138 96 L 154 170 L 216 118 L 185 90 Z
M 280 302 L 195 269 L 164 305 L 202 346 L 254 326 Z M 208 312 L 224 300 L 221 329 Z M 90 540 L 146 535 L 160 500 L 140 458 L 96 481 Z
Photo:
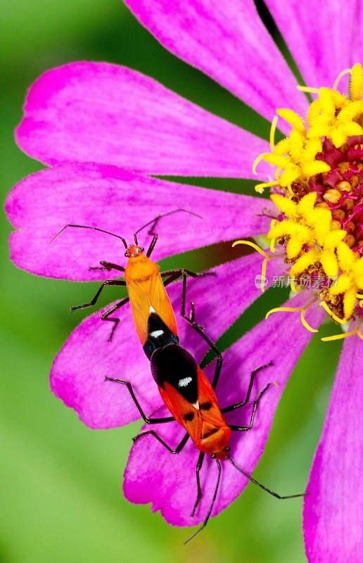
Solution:
M 49 241 L 68 223 L 100 227 L 132 241 L 136 229 L 181 206 L 203 218 L 176 213 L 161 220 L 153 259 L 267 232 L 268 217 L 257 214 L 272 209 L 262 198 L 164 182 L 115 166 L 63 165 L 25 178 L 8 196 L 6 211 L 18 229 L 11 234 L 11 258 L 18 267 L 47 277 L 113 277 L 89 267 L 100 260 L 125 265 L 125 248 L 114 236 L 69 228 Z M 139 241 L 150 243 L 147 229 Z

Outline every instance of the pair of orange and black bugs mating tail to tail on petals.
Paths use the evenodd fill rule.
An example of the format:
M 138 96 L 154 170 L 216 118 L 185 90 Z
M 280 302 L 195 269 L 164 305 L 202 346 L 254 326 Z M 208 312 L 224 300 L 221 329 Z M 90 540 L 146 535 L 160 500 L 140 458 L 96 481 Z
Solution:
M 166 215 L 177 213 L 179 211 L 184 210 L 174 210 Z M 209 510 L 205 515 L 202 526 L 200 526 L 196 533 L 189 538 L 189 540 L 191 540 L 205 527 L 208 519 L 210 518 L 212 508 L 217 498 L 222 474 L 220 460 L 227 459 L 235 467 L 235 469 L 238 470 L 238 472 L 241 472 L 241 474 L 246 476 L 247 479 L 262 487 L 265 491 L 274 495 L 276 498 L 293 498 L 301 495 L 288 495 L 283 497 L 274 493 L 274 491 L 265 487 L 261 483 L 258 483 L 255 479 L 253 479 L 253 477 L 238 467 L 229 453 L 231 450 L 231 447 L 229 446 L 231 431 L 249 431 L 253 428 L 257 406 L 271 384 L 267 384 L 264 388 L 262 388 L 260 393 L 257 394 L 253 403 L 253 410 L 248 424 L 243 426 L 227 424 L 224 419 L 224 413 L 235 411 L 238 408 L 243 407 L 243 405 L 247 405 L 249 403 L 255 375 L 257 372 L 260 372 L 261 369 L 265 369 L 271 364 L 258 367 L 252 372 L 246 396 L 243 400 L 222 409 L 219 408 L 215 388 L 217 387 L 222 369 L 222 355 L 210 339 L 208 339 L 208 336 L 205 335 L 203 327 L 200 327 L 200 325 L 195 322 L 195 309 L 193 303 L 191 314 L 187 316 L 185 312 L 186 277 L 188 274 L 195 277 L 198 276 L 198 274 L 194 274 L 188 270 L 170 270 L 159 274 L 158 266 L 150 260 L 151 252 L 155 247 L 158 237 L 157 234 L 153 233 L 153 228 L 155 228 L 155 224 L 157 224 L 158 220 L 163 216 L 156 217 L 153 221 L 148 222 L 144 225 L 144 227 L 141 227 L 141 229 L 134 234 L 134 244 L 131 246 L 127 246 L 125 239 L 121 236 L 104 231 L 98 227 L 87 227 L 83 225 L 67 225 L 67 227 L 91 228 L 101 232 L 107 232 L 108 234 L 117 236 L 117 238 L 121 239 L 122 243 L 125 245 L 125 256 L 128 258 L 126 269 L 111 262 L 101 262 L 102 270 L 115 269 L 125 272 L 125 281 L 107 280 L 103 282 L 90 303 L 79 305 L 76 308 L 84 308 L 89 305 L 94 305 L 106 285 L 127 285 L 129 297 L 120 301 L 103 313 L 102 318 L 103 320 L 110 320 L 114 322 L 114 327 L 110 334 L 110 338 L 112 338 L 119 320 L 110 318 L 110 315 L 115 310 L 122 307 L 122 305 L 127 303 L 127 301 L 130 301 L 136 332 L 146 355 L 151 360 L 151 373 L 153 375 L 153 379 L 158 385 L 160 396 L 172 416 L 164 418 L 147 417 L 138 398 L 136 397 L 132 384 L 129 381 L 115 379 L 112 377 L 106 377 L 106 381 L 113 381 L 127 386 L 141 417 L 147 424 L 164 424 L 176 420 L 179 424 L 181 424 L 181 426 L 184 426 L 184 429 L 186 430 L 186 434 L 182 438 L 181 442 L 174 449 L 171 448 L 170 445 L 168 445 L 163 438 L 161 438 L 159 434 L 153 430 L 141 432 L 141 434 L 136 436 L 134 440 L 139 440 L 141 436 L 153 436 L 153 438 L 157 439 L 158 442 L 171 454 L 176 455 L 181 452 L 186 442 L 189 438 L 191 438 L 193 443 L 196 445 L 196 448 L 200 451 L 198 462 L 196 464 L 197 495 L 196 501 L 194 502 L 191 510 L 192 516 L 196 514 L 200 499 L 203 495 L 203 491 L 200 486 L 200 470 L 202 469 L 205 454 L 209 454 L 213 459 L 215 459 L 217 464 L 217 481 L 215 483 L 215 489 Z M 144 254 L 144 248 L 139 246 L 137 234 L 151 224 L 153 225 L 153 228 L 149 234 L 153 234 L 153 239 L 148 251 Z M 65 227 L 63 229 L 65 229 Z M 210 384 L 203 371 L 200 367 L 198 367 L 196 361 L 193 359 L 193 356 L 186 349 L 179 346 L 177 323 L 160 275 L 167 277 L 165 285 L 171 283 L 180 276 L 183 277 L 181 316 L 184 317 L 186 322 L 188 322 L 191 327 L 204 339 L 204 341 L 208 343 L 210 349 L 213 350 L 217 356 L 212 384 Z

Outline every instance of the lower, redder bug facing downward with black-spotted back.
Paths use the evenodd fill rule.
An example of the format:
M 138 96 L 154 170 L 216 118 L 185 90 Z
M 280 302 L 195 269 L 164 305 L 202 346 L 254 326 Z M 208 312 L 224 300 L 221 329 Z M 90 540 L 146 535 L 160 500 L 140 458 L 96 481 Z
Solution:
M 222 466 L 220 460 L 227 459 L 238 472 L 243 474 L 252 483 L 260 486 L 265 491 L 267 491 L 267 493 L 270 493 L 276 498 L 296 498 L 303 496 L 304 493 L 281 496 L 265 485 L 262 485 L 262 483 L 256 481 L 252 476 L 243 471 L 241 467 L 238 467 L 232 459 L 229 453 L 231 450 L 231 447 L 229 446 L 231 431 L 248 431 L 252 429 L 260 398 L 273 384 L 269 383 L 265 385 L 265 387 L 262 388 L 262 391 L 257 394 L 257 397 L 255 398 L 255 401 L 253 403 L 250 422 L 247 425 L 236 426 L 235 424 L 228 424 L 223 415 L 224 413 L 234 411 L 240 407 L 243 407 L 243 405 L 248 404 L 250 400 L 250 393 L 253 388 L 255 375 L 257 374 L 257 372 L 260 372 L 260 370 L 272 365 L 272 362 L 258 367 L 251 373 L 246 397 L 243 400 L 239 401 L 238 403 L 234 403 L 233 405 L 220 408 L 217 396 L 215 394 L 215 388 L 217 386 L 219 375 L 222 369 L 222 354 L 210 341 L 210 339 L 208 339 L 208 336 L 204 334 L 203 327 L 200 327 L 200 324 L 197 324 L 194 321 L 195 310 L 193 303 L 191 303 L 192 308 L 190 317 L 185 314 L 185 302 L 186 278 L 184 277 L 183 296 L 181 301 L 181 316 L 184 317 L 184 319 L 189 322 L 189 324 L 191 324 L 191 327 L 193 327 L 193 329 L 195 329 L 198 334 L 202 336 L 202 338 L 210 346 L 211 350 L 213 350 L 217 355 L 215 374 L 212 379 L 212 384 L 210 384 L 210 381 L 208 381 L 202 369 L 198 367 L 193 356 L 177 343 L 169 343 L 166 346 L 157 348 L 151 355 L 151 373 L 153 375 L 153 379 L 158 385 L 160 396 L 163 399 L 168 410 L 170 411 L 170 414 L 172 415 L 171 417 L 147 417 L 139 403 L 139 400 L 137 400 L 132 388 L 132 384 L 129 383 L 129 381 L 124 381 L 122 379 L 113 379 L 111 377 L 106 377 L 106 381 L 114 381 L 116 383 L 127 386 L 129 393 L 140 412 L 141 417 L 147 424 L 162 424 L 176 420 L 177 422 L 179 422 L 179 424 L 181 424 L 181 426 L 184 426 L 184 429 L 186 429 L 186 434 L 174 449 L 172 449 L 170 445 L 168 445 L 163 440 L 163 438 L 161 438 L 153 430 L 141 432 L 134 438 L 134 441 L 139 440 L 141 436 L 147 436 L 150 434 L 151 436 L 156 438 L 160 442 L 160 444 L 162 444 L 170 453 L 179 454 L 184 448 L 186 442 L 189 440 L 189 438 L 191 438 L 193 443 L 196 445 L 196 448 L 198 448 L 198 450 L 200 451 L 198 462 L 196 464 L 197 497 L 191 511 L 191 516 L 194 516 L 203 494 L 200 487 L 199 474 L 200 469 L 202 468 L 205 454 L 209 454 L 213 459 L 215 459 L 217 463 L 218 476 L 217 482 L 215 484 L 215 490 L 212 496 L 212 502 L 210 503 L 210 507 L 208 513 L 205 516 L 203 524 L 195 533 L 193 533 L 193 536 L 186 540 L 185 543 L 188 543 L 200 531 L 202 531 L 203 528 L 205 528 L 210 518 L 212 508 L 217 498 L 219 482 L 221 479 Z

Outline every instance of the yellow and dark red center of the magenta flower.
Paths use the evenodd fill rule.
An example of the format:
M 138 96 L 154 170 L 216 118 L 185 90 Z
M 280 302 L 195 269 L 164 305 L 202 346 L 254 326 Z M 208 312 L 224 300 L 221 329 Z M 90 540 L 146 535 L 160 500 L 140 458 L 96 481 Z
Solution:
M 317 94 L 306 121 L 292 110 L 277 110 L 291 133 L 275 145 L 274 118 L 272 150 L 253 165 L 255 171 L 265 160 L 276 167 L 276 179 L 256 186 L 260 192 L 271 188 L 278 209 L 267 234 L 272 253 L 283 255 L 292 289 L 314 291 L 341 324 L 363 312 L 362 65 L 340 77 L 348 72 L 349 96 L 337 91 L 339 81 L 333 89 L 300 88 Z M 272 255 L 263 254 L 266 265 Z

